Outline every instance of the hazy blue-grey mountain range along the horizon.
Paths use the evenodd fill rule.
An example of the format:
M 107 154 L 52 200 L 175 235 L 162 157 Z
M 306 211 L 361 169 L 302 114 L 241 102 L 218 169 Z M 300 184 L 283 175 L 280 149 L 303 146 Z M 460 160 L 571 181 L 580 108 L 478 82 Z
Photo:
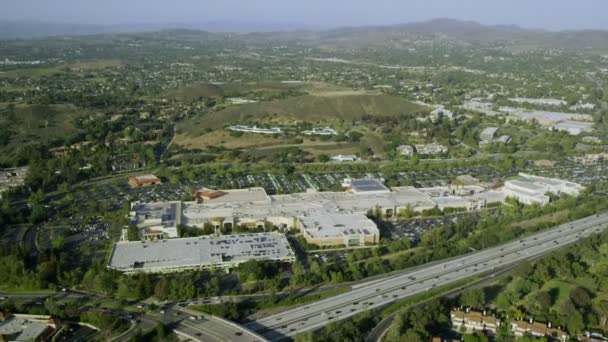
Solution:
M 483 25 L 475 21 L 439 18 L 424 22 L 385 25 L 342 27 L 318 30 L 305 24 L 281 22 L 215 21 L 201 23 L 157 23 L 127 25 L 63 24 L 34 21 L 0 21 L 0 39 L 39 38 L 45 36 L 81 36 L 109 33 L 136 33 L 166 31 L 179 33 L 187 30 L 199 39 L 215 36 L 214 33 L 236 33 L 243 39 L 269 41 L 308 41 L 326 43 L 336 48 L 343 46 L 398 46 L 411 34 L 440 33 L 456 44 L 485 44 L 497 42 L 510 46 L 598 49 L 608 51 L 608 31 L 547 31 L 526 29 L 515 25 Z M 205 31 L 205 32 L 202 32 Z M 196 32 L 199 34 L 197 35 Z M 178 34 L 179 36 L 179 34 Z M 237 37 L 238 38 L 238 37 Z M 410 37 L 411 38 L 411 37 Z M 405 40 L 404 40 L 405 39 Z

